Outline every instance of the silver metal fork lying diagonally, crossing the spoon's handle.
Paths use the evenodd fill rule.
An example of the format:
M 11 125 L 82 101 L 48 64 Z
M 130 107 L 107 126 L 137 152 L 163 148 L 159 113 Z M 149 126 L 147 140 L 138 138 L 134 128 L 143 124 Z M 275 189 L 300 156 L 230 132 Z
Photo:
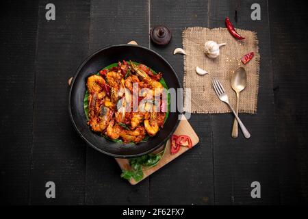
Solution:
M 229 103 L 229 99 L 228 99 L 228 95 L 226 94 L 226 92 L 224 92 L 224 88 L 222 87 L 222 84 L 220 83 L 220 81 L 218 80 L 217 77 L 214 77 L 213 79 L 211 79 L 211 83 L 213 83 L 214 86 L 214 90 L 217 94 L 217 96 L 219 97 L 220 101 L 227 103 L 227 105 L 229 105 L 230 109 L 232 110 L 236 120 L 238 120 L 238 125 L 240 125 L 242 132 L 245 136 L 245 138 L 251 138 L 251 134 L 249 133 L 249 131 L 246 129 L 246 127 L 244 126 L 244 124 L 242 123 L 242 121 L 240 120 L 240 118 L 238 118 L 238 115 L 235 113 L 235 111 L 233 110 L 233 108 L 231 107 L 230 103 Z

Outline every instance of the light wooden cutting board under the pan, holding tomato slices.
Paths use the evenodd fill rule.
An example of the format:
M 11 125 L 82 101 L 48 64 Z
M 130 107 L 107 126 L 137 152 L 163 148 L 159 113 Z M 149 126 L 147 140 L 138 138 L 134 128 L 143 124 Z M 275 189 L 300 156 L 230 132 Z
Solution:
M 190 138 L 192 139 L 192 146 L 195 146 L 199 142 L 198 136 L 194 132 L 194 129 L 192 129 L 192 126 L 190 125 L 190 123 L 188 123 L 188 120 L 185 118 L 185 116 L 182 116 L 182 120 L 180 121 L 179 126 L 177 127 L 177 130 L 175 131 L 174 134 L 175 135 L 190 136 Z M 162 151 L 163 147 L 164 146 L 162 146 L 160 149 L 157 149 L 157 151 L 155 151 L 154 153 Z M 149 177 L 149 175 L 151 175 L 153 172 L 159 170 L 160 168 L 162 168 L 163 166 L 165 166 L 166 164 L 171 162 L 173 159 L 179 157 L 179 155 L 181 155 L 182 153 L 185 153 L 186 151 L 190 150 L 187 147 L 181 146 L 178 153 L 176 153 L 175 155 L 171 155 L 170 154 L 170 141 L 167 143 L 166 147 L 167 147 L 166 153 L 164 154 L 164 157 L 162 157 L 162 159 L 159 161 L 159 163 L 156 166 L 153 166 L 153 168 L 143 170 L 144 176 L 143 176 L 142 180 L 145 179 L 146 177 Z M 128 159 L 116 158 L 116 162 L 118 162 L 118 165 L 120 166 L 120 168 L 122 170 L 129 170 L 130 169 Z M 140 180 L 140 181 L 142 181 L 142 180 Z M 131 179 L 129 181 L 129 183 L 131 183 L 131 185 L 136 185 L 140 181 L 137 182 L 134 179 Z

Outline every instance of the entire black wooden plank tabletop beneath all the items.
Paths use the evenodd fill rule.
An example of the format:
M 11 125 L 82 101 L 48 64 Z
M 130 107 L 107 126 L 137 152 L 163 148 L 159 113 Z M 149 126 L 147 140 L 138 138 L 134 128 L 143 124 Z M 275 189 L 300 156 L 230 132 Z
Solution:
M 2 3 L 2 2 L 1 2 Z M 293 1 L 49 1 L 2 3 L 0 202 L 5 204 L 255 205 L 308 203 L 307 10 Z M 261 5 L 261 21 L 251 5 Z M 67 80 L 93 51 L 136 40 L 166 58 L 183 81 L 185 27 L 257 31 L 261 53 L 257 115 L 243 114 L 252 138 L 232 139 L 231 114 L 193 114 L 200 143 L 142 183 L 120 178 L 114 158 L 79 138 L 68 118 Z M 172 31 L 167 47 L 149 29 Z M 46 198 L 53 181 L 56 197 Z M 261 183 L 261 198 L 251 183 Z

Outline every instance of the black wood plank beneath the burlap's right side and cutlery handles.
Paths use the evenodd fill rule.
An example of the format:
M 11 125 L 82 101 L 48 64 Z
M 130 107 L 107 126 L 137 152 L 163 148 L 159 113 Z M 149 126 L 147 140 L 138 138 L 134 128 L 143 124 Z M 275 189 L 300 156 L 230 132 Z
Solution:
M 267 1 L 261 5 L 261 21 L 251 20 L 251 5 L 255 1 L 211 1 L 209 26 L 224 27 L 224 18 L 234 21 L 235 27 L 257 31 L 261 55 L 259 97 L 256 115 L 240 114 L 251 138 L 231 138 L 233 116 L 218 114 L 212 117 L 214 139 L 215 197 L 218 205 L 268 205 L 279 203 L 277 146 L 274 141 L 274 104 Z M 261 198 L 251 198 L 251 183 L 261 183 Z

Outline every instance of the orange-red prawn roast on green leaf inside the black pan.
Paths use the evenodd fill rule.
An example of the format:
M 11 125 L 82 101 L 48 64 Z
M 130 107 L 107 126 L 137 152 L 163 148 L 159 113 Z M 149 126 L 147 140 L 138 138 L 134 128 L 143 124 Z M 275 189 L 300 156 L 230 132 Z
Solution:
M 88 125 L 115 142 L 145 142 L 164 127 L 167 89 L 162 73 L 144 64 L 130 60 L 111 64 L 86 79 Z

